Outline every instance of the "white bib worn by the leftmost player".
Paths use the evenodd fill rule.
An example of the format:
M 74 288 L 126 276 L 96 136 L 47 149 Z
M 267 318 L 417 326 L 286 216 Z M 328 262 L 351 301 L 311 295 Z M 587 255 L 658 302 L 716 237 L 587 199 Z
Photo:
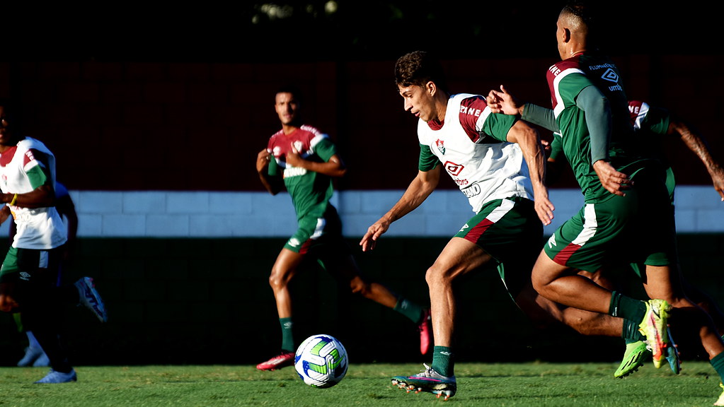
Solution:
M 0 189 L 2 192 L 25 194 L 33 191 L 33 186 L 30 185 L 28 179 L 28 171 L 30 168 L 43 164 L 35 159 L 30 150 L 35 150 L 45 156 L 49 173 L 55 183 L 55 156 L 42 142 L 25 137 L 24 140 L 17 143 L 17 150 L 14 151 L 12 159 L 4 166 L 0 165 Z M 66 226 L 55 207 L 11 206 L 10 210 L 17 223 L 17 234 L 12 243 L 13 247 L 46 250 L 59 247 L 67 241 Z

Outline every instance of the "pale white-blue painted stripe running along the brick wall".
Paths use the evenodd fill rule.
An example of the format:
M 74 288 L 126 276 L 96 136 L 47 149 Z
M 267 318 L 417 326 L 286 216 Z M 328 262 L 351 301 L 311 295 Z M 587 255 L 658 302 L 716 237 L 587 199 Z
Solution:
M 288 237 L 296 216 L 286 193 L 71 191 L 79 237 Z M 345 236 L 362 236 L 402 196 L 402 190 L 337 192 L 332 203 L 340 211 Z M 577 189 L 552 189 L 555 219 L 552 232 L 578 212 L 583 197 Z M 724 202 L 712 187 L 676 189 L 676 222 L 682 234 L 724 233 Z M 456 190 L 439 190 L 413 213 L 395 222 L 387 236 L 450 237 L 473 215 Z M 0 234 L 7 236 L 7 223 Z

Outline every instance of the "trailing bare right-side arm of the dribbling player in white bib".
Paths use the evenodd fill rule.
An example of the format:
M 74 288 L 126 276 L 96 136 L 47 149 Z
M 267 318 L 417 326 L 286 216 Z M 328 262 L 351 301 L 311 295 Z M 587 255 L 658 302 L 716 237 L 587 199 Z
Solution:
M 548 189 L 545 185 L 546 156 L 540 134 L 525 121 L 516 121 L 508 130 L 508 141 L 518 143 L 521 147 L 533 184 L 536 213 L 544 225 L 550 225 L 555 207 L 548 198 Z

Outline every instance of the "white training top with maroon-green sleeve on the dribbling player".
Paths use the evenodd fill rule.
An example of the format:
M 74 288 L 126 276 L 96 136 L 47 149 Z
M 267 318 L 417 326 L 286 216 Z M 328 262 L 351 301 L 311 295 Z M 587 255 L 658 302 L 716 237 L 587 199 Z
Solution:
M 486 123 L 488 120 L 492 121 Z M 514 122 L 505 119 L 505 115 L 493 114 L 482 96 L 466 93 L 448 100 L 445 123 L 439 129 L 432 129 L 425 121 L 418 122 L 420 144 L 437 156 L 468 197 L 474 213 L 491 200 L 534 197 L 521 147 L 500 141 L 506 140 Z

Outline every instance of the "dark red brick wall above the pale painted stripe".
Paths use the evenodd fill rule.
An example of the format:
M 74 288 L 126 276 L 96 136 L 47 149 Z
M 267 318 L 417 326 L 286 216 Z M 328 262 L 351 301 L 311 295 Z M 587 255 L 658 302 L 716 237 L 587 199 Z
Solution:
M 548 106 L 544 74 L 552 62 L 445 65 L 455 92 L 487 93 L 502 83 Z M 617 63 L 630 98 L 681 113 L 723 159 L 724 141 L 717 137 L 723 56 L 628 56 Z M 340 188 L 404 189 L 416 173 L 418 150 L 415 120 L 403 111 L 393 65 L 6 62 L 0 64 L 0 96 L 22 100 L 25 133 L 54 150 L 59 179 L 70 189 L 256 191 L 256 153 L 278 127 L 273 93 L 291 82 L 306 93 L 308 121 L 340 145 L 350 167 Z M 673 151 L 680 184 L 709 184 L 693 154 Z M 454 188 L 451 182 L 443 187 Z

